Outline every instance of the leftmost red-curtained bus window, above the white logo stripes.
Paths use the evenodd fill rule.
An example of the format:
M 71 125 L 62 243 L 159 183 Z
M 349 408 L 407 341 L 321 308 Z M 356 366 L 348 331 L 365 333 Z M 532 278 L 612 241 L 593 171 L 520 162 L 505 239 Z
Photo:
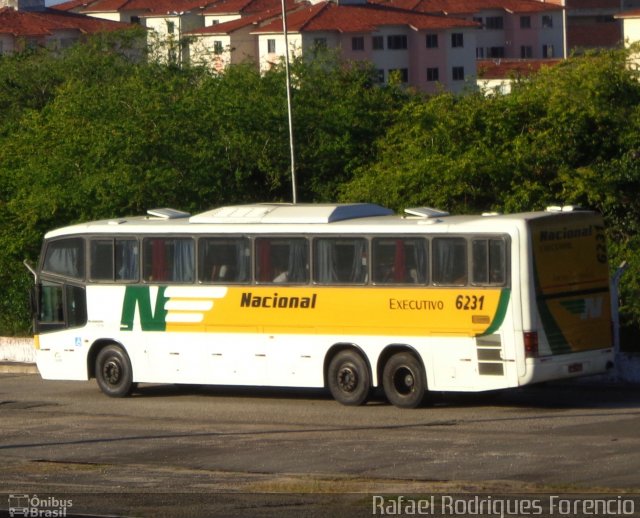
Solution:
M 153 237 L 143 241 L 143 278 L 147 282 L 193 282 L 194 243 L 191 238 Z

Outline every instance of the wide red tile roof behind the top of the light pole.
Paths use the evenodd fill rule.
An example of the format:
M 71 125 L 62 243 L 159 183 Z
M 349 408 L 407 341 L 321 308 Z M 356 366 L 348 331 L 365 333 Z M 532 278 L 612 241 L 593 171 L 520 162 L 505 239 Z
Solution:
M 287 28 L 293 32 L 337 31 L 371 32 L 388 25 L 408 25 L 415 29 L 475 27 L 475 22 L 431 16 L 374 4 L 336 5 L 322 2 L 287 15 Z M 267 24 L 256 33 L 282 31 L 282 20 Z

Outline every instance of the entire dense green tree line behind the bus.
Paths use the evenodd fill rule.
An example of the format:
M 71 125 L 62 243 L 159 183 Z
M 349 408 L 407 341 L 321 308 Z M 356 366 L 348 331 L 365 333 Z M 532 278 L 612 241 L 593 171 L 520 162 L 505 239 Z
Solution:
M 0 335 L 29 329 L 45 231 L 172 206 L 291 199 L 284 71 L 133 60 L 105 37 L 0 58 Z M 567 60 L 510 95 L 375 86 L 334 55 L 292 66 L 300 201 L 452 212 L 603 212 L 623 310 L 640 325 L 640 84 L 627 53 Z

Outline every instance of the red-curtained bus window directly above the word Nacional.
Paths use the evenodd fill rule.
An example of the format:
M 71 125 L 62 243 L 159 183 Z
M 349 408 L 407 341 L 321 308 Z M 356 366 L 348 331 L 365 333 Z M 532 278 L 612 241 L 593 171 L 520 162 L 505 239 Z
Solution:
M 256 238 L 256 280 L 276 284 L 309 281 L 309 246 L 304 238 Z

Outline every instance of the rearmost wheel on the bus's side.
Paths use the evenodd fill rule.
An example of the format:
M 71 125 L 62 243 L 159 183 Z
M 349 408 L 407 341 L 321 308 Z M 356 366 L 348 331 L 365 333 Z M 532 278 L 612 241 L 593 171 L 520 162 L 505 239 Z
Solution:
M 389 358 L 382 372 L 382 386 L 389 402 L 401 408 L 420 406 L 427 390 L 422 365 L 406 352 Z

